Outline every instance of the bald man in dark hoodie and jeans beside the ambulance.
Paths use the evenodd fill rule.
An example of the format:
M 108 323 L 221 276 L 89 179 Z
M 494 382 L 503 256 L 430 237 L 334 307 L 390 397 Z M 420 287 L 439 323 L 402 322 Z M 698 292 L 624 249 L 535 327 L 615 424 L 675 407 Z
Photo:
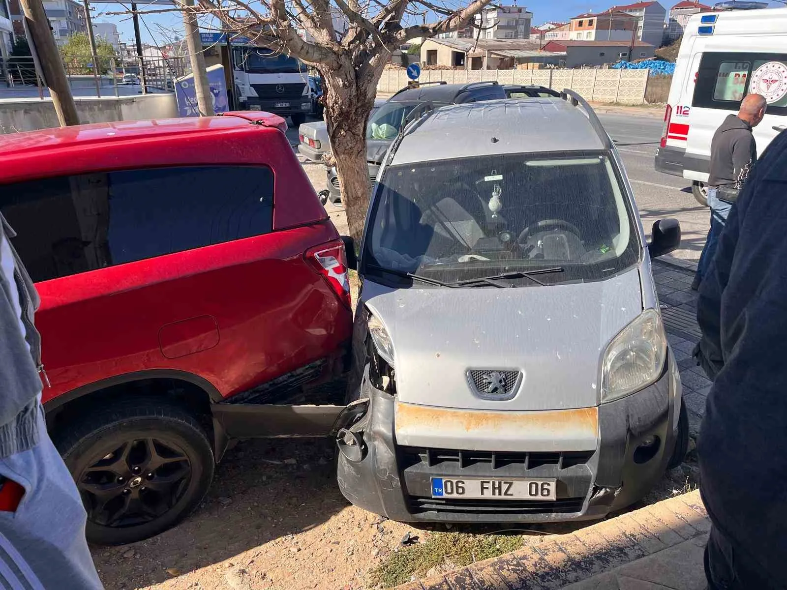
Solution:
M 749 94 L 741 102 L 737 115 L 729 115 L 713 134 L 711 140 L 711 166 L 708 176 L 708 207 L 711 208 L 711 230 L 697 264 L 692 289 L 696 290 L 716 251 L 719 234 L 730 214 L 737 194 L 748 178 L 757 160 L 757 144 L 752 128 L 763 116 L 767 103 L 760 94 Z

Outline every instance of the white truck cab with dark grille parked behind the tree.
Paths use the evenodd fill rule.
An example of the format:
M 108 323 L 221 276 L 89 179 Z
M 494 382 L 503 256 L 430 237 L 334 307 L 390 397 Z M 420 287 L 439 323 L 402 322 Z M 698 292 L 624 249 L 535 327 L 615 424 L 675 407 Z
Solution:
M 289 116 L 296 127 L 312 112 L 309 72 L 294 57 L 233 43 L 232 69 L 241 109 Z

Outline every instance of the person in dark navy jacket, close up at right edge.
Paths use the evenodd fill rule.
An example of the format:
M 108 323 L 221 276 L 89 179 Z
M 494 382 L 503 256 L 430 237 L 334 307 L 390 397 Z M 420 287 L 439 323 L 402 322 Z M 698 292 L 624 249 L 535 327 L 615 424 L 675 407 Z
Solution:
M 700 430 L 711 588 L 787 588 L 787 133 L 741 191 L 700 286 Z

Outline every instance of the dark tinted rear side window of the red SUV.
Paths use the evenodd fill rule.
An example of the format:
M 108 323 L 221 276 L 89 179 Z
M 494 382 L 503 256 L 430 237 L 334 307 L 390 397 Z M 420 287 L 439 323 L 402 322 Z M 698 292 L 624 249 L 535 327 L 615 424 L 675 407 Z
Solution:
M 268 234 L 273 174 L 205 166 L 61 176 L 3 186 L 0 210 L 41 282 Z

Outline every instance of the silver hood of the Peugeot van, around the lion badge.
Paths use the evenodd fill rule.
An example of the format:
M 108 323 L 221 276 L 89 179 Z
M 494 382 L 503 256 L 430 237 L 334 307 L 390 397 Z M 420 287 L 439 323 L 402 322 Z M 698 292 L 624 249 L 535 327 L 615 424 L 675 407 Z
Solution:
M 639 269 L 606 281 L 515 289 L 392 289 L 364 279 L 363 301 L 393 341 L 397 398 L 478 410 L 598 404 L 600 361 L 642 311 Z M 484 400 L 467 371 L 519 371 L 509 400 Z

